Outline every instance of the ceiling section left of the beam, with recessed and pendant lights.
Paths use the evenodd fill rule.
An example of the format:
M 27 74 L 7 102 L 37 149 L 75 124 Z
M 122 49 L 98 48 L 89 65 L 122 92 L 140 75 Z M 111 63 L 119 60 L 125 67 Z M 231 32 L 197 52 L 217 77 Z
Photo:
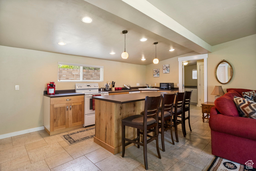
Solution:
M 2 0 L 0 3 L 0 45 L 3 46 L 140 65 L 153 62 L 153 43 L 156 41 L 160 61 L 193 51 L 83 0 Z M 94 21 L 83 23 L 82 16 L 91 16 Z M 128 30 L 128 59 L 121 58 L 124 51 L 123 30 Z M 143 37 L 148 40 L 139 41 Z M 58 45 L 60 41 L 67 45 Z M 168 51 L 171 48 L 175 51 Z M 116 54 L 110 55 L 112 51 Z M 143 56 L 145 61 L 141 60 Z

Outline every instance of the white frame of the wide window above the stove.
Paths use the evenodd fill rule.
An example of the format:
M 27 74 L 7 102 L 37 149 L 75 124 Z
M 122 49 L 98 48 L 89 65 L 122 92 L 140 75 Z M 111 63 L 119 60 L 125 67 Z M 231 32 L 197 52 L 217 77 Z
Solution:
M 58 62 L 59 65 L 70 65 L 80 67 L 80 80 L 59 80 L 59 71 L 57 73 L 58 82 L 103 82 L 104 79 L 104 66 L 98 65 L 87 65 L 87 64 L 79 64 L 79 63 L 68 63 L 68 62 Z M 83 80 L 83 67 L 94 67 L 100 68 L 100 80 Z

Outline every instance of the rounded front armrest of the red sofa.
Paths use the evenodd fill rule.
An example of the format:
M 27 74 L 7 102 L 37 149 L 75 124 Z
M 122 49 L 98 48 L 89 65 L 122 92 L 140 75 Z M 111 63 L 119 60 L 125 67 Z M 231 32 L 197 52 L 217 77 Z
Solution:
M 215 114 L 210 115 L 209 126 L 212 131 L 256 141 L 256 119 Z

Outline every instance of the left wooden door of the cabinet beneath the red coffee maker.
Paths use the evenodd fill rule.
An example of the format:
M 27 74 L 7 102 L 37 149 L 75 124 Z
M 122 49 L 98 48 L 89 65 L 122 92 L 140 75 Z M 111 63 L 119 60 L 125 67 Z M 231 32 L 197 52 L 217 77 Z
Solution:
M 68 128 L 68 103 L 50 105 L 50 132 Z

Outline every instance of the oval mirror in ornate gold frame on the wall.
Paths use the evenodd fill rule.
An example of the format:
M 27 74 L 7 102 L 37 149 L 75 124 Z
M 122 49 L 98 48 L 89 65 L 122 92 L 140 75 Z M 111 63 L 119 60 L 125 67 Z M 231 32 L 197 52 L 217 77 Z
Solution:
M 215 77 L 221 84 L 227 84 L 233 77 L 233 68 L 229 62 L 222 60 L 215 69 Z

